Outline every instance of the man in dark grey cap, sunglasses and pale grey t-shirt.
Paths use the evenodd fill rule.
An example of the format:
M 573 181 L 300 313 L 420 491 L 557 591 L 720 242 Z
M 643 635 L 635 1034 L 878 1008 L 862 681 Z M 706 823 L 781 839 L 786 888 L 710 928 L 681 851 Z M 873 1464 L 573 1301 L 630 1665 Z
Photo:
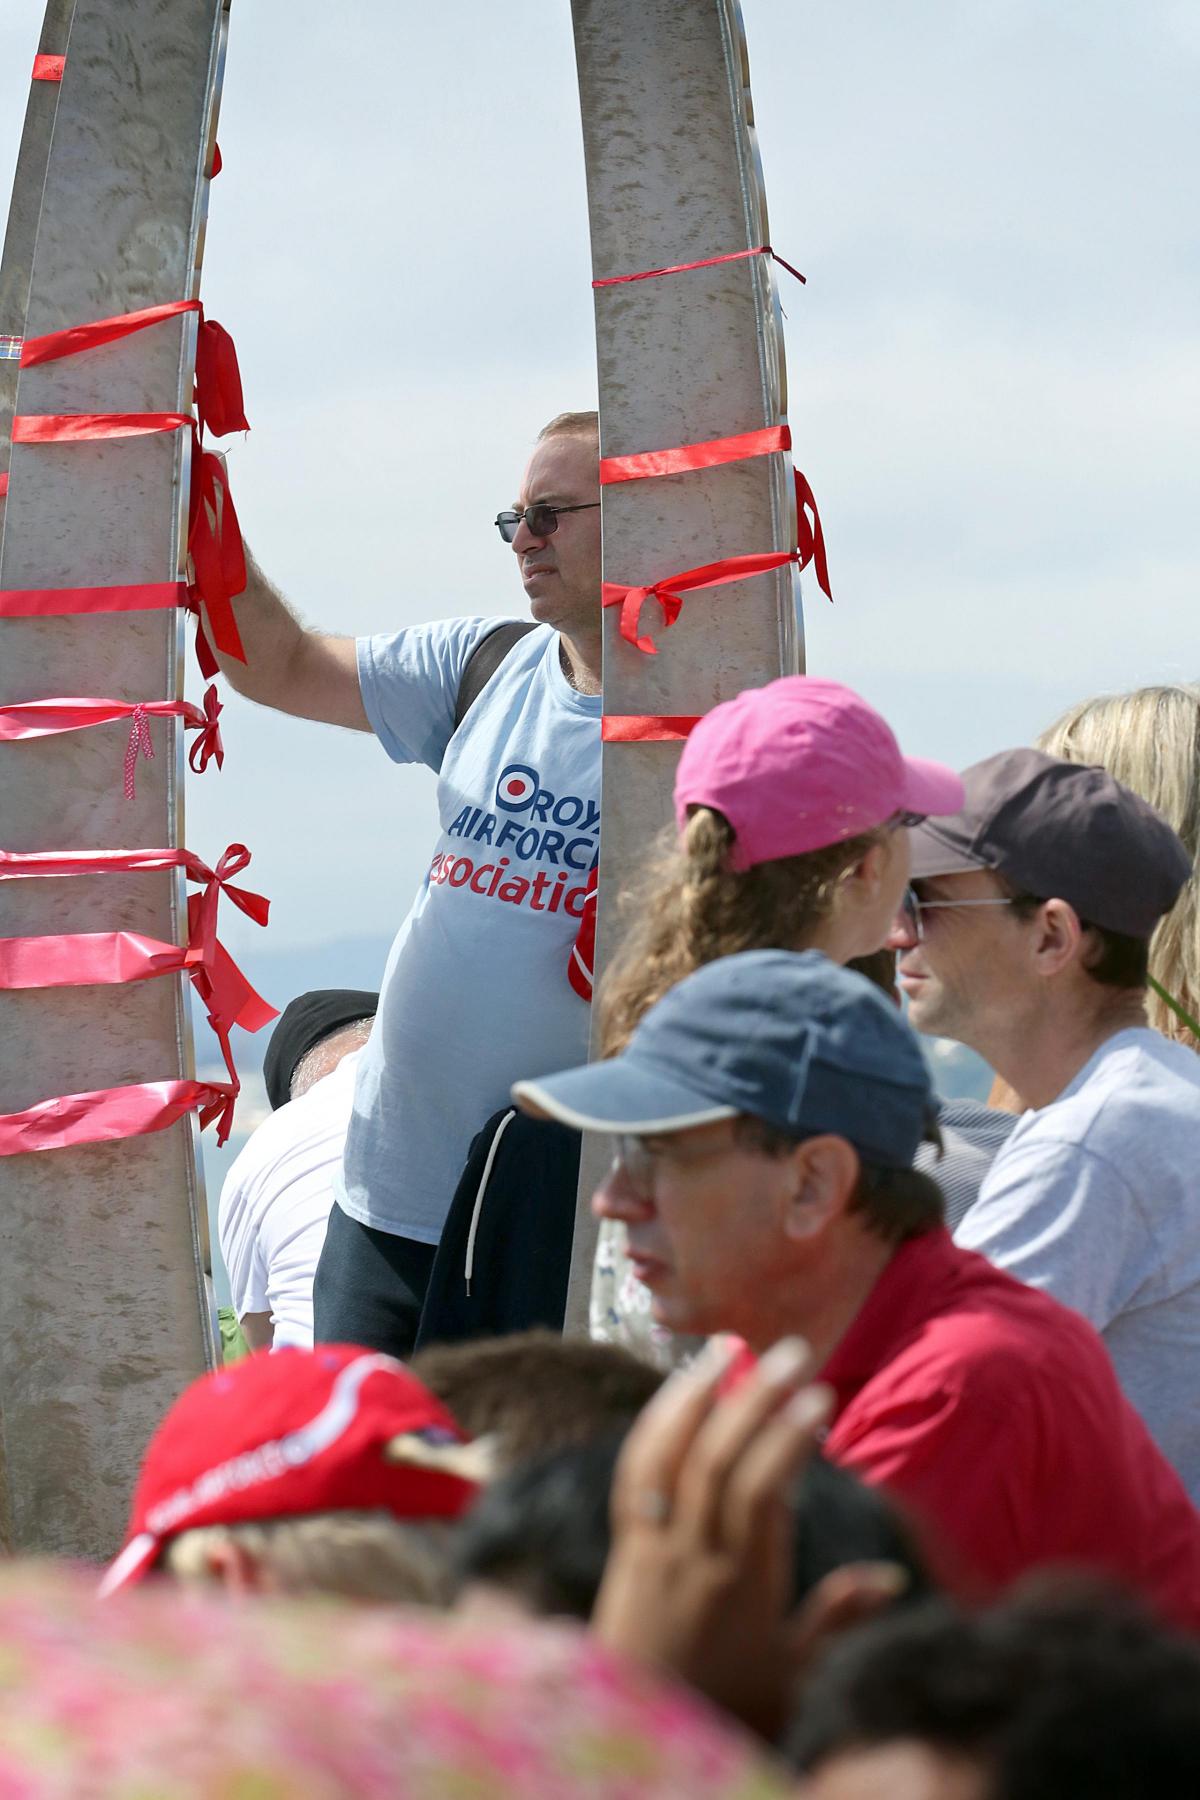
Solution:
M 1146 1024 L 1150 936 L 1191 873 L 1103 769 L 1004 751 L 912 832 L 892 934 L 909 1019 L 977 1049 L 1027 1109 L 957 1238 L 1103 1334 L 1200 1498 L 1200 1058 Z

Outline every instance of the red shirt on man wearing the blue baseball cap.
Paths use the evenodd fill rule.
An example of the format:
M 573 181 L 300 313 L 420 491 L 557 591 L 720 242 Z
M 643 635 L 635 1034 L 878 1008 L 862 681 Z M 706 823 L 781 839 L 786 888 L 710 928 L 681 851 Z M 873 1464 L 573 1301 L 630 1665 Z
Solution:
M 928 1231 L 900 1246 L 820 1379 L 829 1460 L 930 1525 L 975 1591 L 1087 1566 L 1200 1631 L 1200 1514 L 1078 1312 Z

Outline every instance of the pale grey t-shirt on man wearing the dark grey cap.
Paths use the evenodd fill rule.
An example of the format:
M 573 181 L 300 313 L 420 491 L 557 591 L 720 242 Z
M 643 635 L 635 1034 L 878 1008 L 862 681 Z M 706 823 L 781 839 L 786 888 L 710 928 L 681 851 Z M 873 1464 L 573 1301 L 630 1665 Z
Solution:
M 955 1238 L 1090 1319 L 1200 1501 L 1200 1057 L 1117 1031 L 1020 1116 Z

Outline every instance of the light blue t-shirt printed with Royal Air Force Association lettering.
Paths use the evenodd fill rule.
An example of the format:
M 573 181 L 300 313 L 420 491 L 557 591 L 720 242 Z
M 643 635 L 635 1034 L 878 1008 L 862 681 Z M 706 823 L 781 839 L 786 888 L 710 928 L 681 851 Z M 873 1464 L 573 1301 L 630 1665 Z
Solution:
M 513 1082 L 588 1053 L 567 967 L 599 860 L 601 698 L 576 693 L 540 626 L 455 731 L 466 661 L 500 623 L 358 641 L 383 749 L 437 770 L 441 835 L 387 959 L 336 1201 L 419 1244 L 439 1240 L 471 1138 Z M 383 830 L 383 803 L 378 817 Z

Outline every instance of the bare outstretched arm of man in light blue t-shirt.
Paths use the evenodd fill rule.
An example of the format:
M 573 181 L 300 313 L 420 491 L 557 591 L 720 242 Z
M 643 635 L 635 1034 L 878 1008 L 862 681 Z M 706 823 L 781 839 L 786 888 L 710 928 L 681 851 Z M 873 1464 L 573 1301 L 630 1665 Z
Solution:
M 214 650 L 221 673 L 237 693 L 297 718 L 371 731 L 358 688 L 353 637 L 327 637 L 300 625 L 250 551 L 246 589 L 234 601 L 246 661 Z M 212 628 L 209 641 L 212 641 Z

